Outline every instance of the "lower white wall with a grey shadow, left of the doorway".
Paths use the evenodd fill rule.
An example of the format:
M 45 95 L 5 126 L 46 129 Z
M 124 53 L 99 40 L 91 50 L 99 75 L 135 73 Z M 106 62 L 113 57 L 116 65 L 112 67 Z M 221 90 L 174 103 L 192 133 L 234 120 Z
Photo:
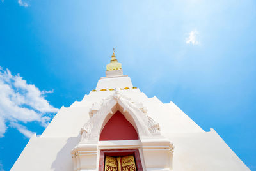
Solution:
M 71 171 L 70 151 L 78 141 L 77 137 L 40 138 L 33 135 L 11 170 Z

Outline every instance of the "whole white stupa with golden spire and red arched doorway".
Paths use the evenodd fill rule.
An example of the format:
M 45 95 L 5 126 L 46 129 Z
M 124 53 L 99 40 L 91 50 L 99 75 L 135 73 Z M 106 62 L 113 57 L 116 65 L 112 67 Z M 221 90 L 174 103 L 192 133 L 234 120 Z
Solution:
M 19 142 L 17 142 L 19 143 Z M 95 90 L 30 138 L 12 171 L 249 170 L 212 128 L 172 101 L 148 98 L 123 75 L 115 52 Z

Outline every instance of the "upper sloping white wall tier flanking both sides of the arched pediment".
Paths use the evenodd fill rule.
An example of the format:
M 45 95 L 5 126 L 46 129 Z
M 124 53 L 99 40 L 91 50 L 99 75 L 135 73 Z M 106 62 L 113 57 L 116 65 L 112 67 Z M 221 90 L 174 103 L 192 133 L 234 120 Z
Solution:
M 156 97 L 147 98 L 138 89 L 121 92 L 132 100 L 143 103 L 148 110 L 148 115 L 161 125 L 163 133 L 204 131 L 172 102 L 164 104 Z M 113 91 L 91 92 L 86 96 L 86 100 L 75 101 L 68 108 L 62 107 L 42 133 L 42 137 L 76 137 L 83 124 L 89 119 L 88 113 L 92 104 L 100 104 L 102 99 L 110 94 L 113 94 Z

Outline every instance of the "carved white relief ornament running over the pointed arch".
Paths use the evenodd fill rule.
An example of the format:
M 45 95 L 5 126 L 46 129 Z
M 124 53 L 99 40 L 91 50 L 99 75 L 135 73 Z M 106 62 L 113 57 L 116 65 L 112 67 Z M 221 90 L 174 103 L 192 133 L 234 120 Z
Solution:
M 81 141 L 86 141 L 90 138 L 93 123 L 96 124 L 99 132 L 99 129 L 101 128 L 101 125 L 99 125 L 99 119 L 102 123 L 106 115 L 112 113 L 111 108 L 115 105 L 113 100 L 116 101 L 115 104 L 118 103 L 124 108 L 124 112 L 127 111 L 131 114 L 131 117 L 134 119 L 136 126 L 138 127 L 139 136 L 140 133 L 142 133 L 143 136 L 150 134 L 156 135 L 157 133 L 160 134 L 159 123 L 156 123 L 154 119 L 147 115 L 147 108 L 143 106 L 143 103 L 132 101 L 131 98 L 121 94 L 120 89 L 117 87 L 114 93 L 108 98 L 104 98 L 100 104 L 93 103 L 89 112 L 90 120 L 84 124 L 83 128 L 81 128 Z M 99 135 L 94 134 L 93 136 L 97 137 Z

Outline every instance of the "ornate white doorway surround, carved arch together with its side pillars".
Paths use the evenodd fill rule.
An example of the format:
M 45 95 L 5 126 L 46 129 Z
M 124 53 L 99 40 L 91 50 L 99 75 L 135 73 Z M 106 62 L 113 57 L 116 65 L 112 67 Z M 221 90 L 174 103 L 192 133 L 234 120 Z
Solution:
M 121 94 L 118 88 L 108 98 L 104 98 L 99 103 L 93 103 L 90 108 L 90 119 L 80 131 L 81 140 L 71 152 L 74 170 L 88 170 L 88 168 L 97 170 L 99 149 L 127 149 L 130 147 L 129 143 L 131 142 L 127 144 L 122 140 L 118 141 L 119 144 L 111 145 L 108 142 L 106 144 L 98 142 L 102 128 L 117 110 L 120 110 L 136 129 L 140 140 L 132 140 L 131 147 L 134 148 L 134 143 L 138 143 L 136 148 L 140 149 L 145 166 L 150 168 L 152 160 L 161 158 L 160 164 L 157 162 L 157 168 L 161 165 L 164 168 L 161 170 L 172 170 L 174 149 L 172 142 L 161 136 L 159 123 L 148 116 L 147 108 L 143 103 L 132 101 L 131 98 Z M 168 162 L 166 163 L 166 161 Z

